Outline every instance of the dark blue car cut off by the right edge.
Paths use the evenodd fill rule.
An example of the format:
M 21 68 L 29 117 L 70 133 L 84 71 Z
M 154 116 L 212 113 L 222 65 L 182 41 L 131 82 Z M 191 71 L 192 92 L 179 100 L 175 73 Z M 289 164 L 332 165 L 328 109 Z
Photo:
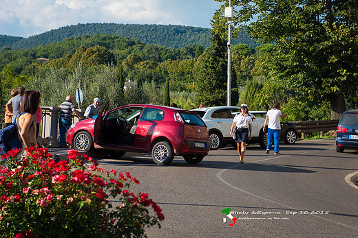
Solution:
M 358 110 L 347 110 L 337 127 L 336 150 L 358 150 Z

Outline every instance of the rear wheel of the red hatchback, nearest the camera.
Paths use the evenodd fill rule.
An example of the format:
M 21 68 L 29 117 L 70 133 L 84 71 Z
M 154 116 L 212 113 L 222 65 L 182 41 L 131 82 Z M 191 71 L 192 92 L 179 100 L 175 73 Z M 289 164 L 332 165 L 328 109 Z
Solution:
M 151 150 L 151 158 L 157 165 L 169 165 L 174 158 L 174 152 L 167 141 L 160 141 Z

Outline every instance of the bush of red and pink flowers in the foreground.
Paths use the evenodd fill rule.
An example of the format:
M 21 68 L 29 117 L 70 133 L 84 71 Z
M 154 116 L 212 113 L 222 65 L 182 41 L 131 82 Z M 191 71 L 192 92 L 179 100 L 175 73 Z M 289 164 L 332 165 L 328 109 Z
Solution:
M 0 237 L 145 237 L 160 228 L 162 210 L 128 190 L 139 184 L 129 172 L 103 171 L 75 150 L 58 163 L 47 149 L 25 150 L 0 162 Z

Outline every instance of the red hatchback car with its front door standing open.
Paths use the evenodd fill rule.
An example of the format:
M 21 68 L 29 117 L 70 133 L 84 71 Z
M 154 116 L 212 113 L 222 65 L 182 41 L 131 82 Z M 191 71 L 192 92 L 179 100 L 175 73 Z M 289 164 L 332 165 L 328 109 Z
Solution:
M 75 150 L 99 148 L 114 156 L 144 152 L 158 165 L 169 165 L 174 156 L 183 156 L 187 163 L 200 163 L 209 152 L 207 126 L 196 112 L 145 104 L 105 112 L 108 104 L 96 119 L 72 124 L 67 142 Z

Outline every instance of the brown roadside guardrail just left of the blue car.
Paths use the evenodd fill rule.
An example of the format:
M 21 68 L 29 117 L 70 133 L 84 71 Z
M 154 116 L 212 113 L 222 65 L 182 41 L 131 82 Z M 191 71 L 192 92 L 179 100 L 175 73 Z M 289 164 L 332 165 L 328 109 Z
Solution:
M 306 133 L 320 132 L 320 136 L 324 136 L 325 132 L 337 130 L 339 120 L 290 122 L 295 124 L 297 132 L 301 133 L 302 139 L 304 139 Z

